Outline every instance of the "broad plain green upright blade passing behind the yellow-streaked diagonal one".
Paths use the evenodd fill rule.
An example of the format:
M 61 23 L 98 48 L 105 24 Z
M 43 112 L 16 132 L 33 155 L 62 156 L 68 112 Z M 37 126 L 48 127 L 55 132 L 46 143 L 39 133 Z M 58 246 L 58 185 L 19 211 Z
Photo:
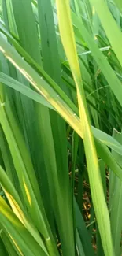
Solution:
M 38 1 L 38 11 L 42 45 L 43 69 L 54 79 L 55 82 L 58 83 L 59 86 L 62 87 L 60 61 L 57 50 L 57 40 L 54 30 L 54 17 L 52 13 L 51 2 L 49 0 Z M 61 239 L 62 253 L 67 256 L 68 254 L 73 255 L 73 252 L 75 250 L 72 225 L 72 201 L 68 180 L 68 158 L 65 121 L 63 121 L 63 119 L 57 113 L 50 111 L 50 122 L 54 139 L 57 176 L 61 191 L 60 197 L 65 198 L 65 201 L 61 202 L 61 204 L 58 206 L 59 213 L 55 214 L 54 210 L 54 215 L 57 221 L 59 236 Z

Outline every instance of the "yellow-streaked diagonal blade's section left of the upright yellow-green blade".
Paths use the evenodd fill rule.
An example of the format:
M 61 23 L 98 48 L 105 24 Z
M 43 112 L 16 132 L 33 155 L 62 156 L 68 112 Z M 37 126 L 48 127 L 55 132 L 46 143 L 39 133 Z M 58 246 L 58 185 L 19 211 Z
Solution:
M 6 55 L 6 58 L 8 58 L 9 61 L 11 61 L 13 65 L 15 65 L 17 69 L 19 69 L 20 72 L 24 74 L 24 76 L 30 81 L 30 83 L 36 88 L 37 91 L 39 91 L 42 95 L 44 95 L 46 100 L 49 101 L 52 106 L 54 106 L 54 109 L 57 109 L 57 112 L 60 113 L 61 116 L 65 117 L 65 120 L 69 124 L 71 124 L 72 128 L 74 128 L 80 136 L 83 136 L 82 129 L 79 129 L 79 120 L 76 117 L 76 113 L 78 113 L 78 110 L 76 110 L 76 107 L 73 106 L 74 112 L 72 111 L 72 109 L 69 109 L 69 107 L 65 105 L 65 100 L 62 102 L 62 98 L 57 97 L 57 93 L 52 88 L 50 88 L 48 83 L 46 83 L 46 80 L 43 80 L 42 76 L 39 77 L 39 75 L 35 72 L 35 70 L 32 69 L 31 66 L 28 65 L 28 63 L 25 63 L 25 61 L 20 58 L 17 52 L 14 51 L 12 47 L 9 46 L 9 44 L 6 43 L 4 39 L 1 39 L 1 46 L 3 47 L 2 49 L 5 49 L 5 50 L 2 50 L 2 49 L 1 50 L 5 51 L 4 54 Z M 29 74 L 31 74 L 31 76 Z M 41 87 L 42 83 L 43 83 L 43 87 Z M 49 93 L 47 93 L 47 91 L 45 91 L 45 88 L 47 91 L 50 91 L 50 95 Z M 51 95 L 53 95 L 53 97 L 51 97 Z M 64 96 L 63 96 L 63 99 L 65 99 Z M 61 106 L 61 103 L 63 103 L 62 106 Z M 69 106 L 71 105 L 69 104 Z

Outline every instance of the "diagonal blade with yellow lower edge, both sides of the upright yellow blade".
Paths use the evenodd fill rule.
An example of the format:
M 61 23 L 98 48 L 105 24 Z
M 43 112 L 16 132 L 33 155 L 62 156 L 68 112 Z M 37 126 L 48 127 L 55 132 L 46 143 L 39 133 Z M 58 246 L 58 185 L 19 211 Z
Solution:
M 17 52 L 11 46 L 9 46 L 9 44 L 6 43 L 6 41 L 2 39 L 2 37 L 0 40 L 0 45 L 2 52 L 6 55 L 6 58 L 9 58 L 9 61 L 11 61 L 13 65 L 15 65 L 17 69 L 19 69 L 20 72 L 22 72 L 24 76 L 31 82 L 31 84 L 36 88 L 36 90 L 39 91 L 39 93 L 42 94 L 46 98 L 46 100 L 50 102 L 52 106 L 54 106 L 55 109 L 57 109 L 57 112 L 65 118 L 65 121 L 67 121 L 68 124 L 70 124 L 72 128 L 81 137 L 83 137 L 82 129 L 79 128 L 79 118 L 76 117 L 76 113 L 72 112 L 72 110 L 69 109 L 65 102 L 62 101 L 62 98 L 57 97 L 57 93 L 52 88 L 50 89 L 49 84 L 46 83 L 45 80 L 43 80 L 42 76 L 40 77 L 38 73 L 35 72 L 35 70 L 32 69 L 30 65 L 28 65 L 28 63 L 25 63 L 25 61 L 22 58 L 20 58 L 20 55 L 17 54 Z M 42 84 L 43 87 L 41 86 Z M 99 144 L 98 147 L 102 146 L 103 145 Z M 102 150 L 99 150 L 99 154 L 101 153 L 102 157 L 105 158 L 105 161 L 107 163 L 110 160 L 111 155 L 109 155 L 109 158 L 106 158 L 107 150 L 105 150 L 105 147 L 102 147 Z M 113 158 L 111 159 L 111 161 L 114 162 Z M 111 161 L 109 161 L 109 165 L 111 165 L 111 169 L 113 169 Z M 117 172 L 117 175 L 121 177 L 121 170 L 119 169 L 119 166 L 116 165 L 116 169 L 113 169 L 113 172 L 115 171 Z

